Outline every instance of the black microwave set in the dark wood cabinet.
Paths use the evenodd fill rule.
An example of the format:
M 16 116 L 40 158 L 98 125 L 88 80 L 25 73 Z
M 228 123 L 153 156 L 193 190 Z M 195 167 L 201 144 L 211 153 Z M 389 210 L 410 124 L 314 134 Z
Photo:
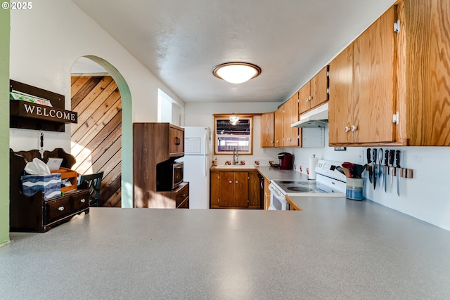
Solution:
M 174 190 L 183 183 L 183 162 L 172 160 L 156 165 L 156 190 Z

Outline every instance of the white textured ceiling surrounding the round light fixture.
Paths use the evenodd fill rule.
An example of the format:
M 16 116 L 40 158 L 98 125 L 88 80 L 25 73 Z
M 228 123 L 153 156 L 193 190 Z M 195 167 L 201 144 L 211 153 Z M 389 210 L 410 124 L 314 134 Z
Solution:
M 72 0 L 189 102 L 281 102 L 395 0 Z M 230 61 L 262 74 L 212 75 Z

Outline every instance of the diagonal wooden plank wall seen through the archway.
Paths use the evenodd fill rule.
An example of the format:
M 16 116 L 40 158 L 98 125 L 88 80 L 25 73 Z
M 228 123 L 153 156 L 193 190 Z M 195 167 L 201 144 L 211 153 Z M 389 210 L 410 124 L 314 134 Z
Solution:
M 101 207 L 121 207 L 122 100 L 110 76 L 73 76 L 72 169 L 79 174 L 103 171 Z

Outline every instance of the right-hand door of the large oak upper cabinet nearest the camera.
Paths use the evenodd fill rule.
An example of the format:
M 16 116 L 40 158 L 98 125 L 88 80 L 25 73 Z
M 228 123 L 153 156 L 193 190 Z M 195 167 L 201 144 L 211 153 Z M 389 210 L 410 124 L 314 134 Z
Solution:
M 396 11 L 394 7 L 387 10 L 353 44 L 354 143 L 395 141 Z

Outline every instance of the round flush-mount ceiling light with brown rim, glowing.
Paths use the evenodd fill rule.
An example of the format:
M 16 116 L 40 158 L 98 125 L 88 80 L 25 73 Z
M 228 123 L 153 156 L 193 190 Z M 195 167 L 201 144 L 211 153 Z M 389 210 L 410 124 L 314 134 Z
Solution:
M 242 84 L 261 74 L 261 68 L 251 63 L 222 63 L 214 67 L 212 74 L 231 84 Z

